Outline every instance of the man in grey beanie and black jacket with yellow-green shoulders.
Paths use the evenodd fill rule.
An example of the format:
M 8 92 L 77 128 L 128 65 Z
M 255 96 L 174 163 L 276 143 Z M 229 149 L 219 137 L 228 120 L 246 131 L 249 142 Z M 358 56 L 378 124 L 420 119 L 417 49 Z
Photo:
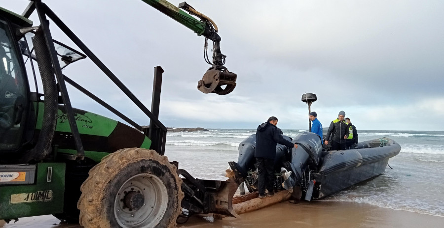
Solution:
M 332 149 L 331 150 L 344 150 L 345 140 L 349 136 L 349 126 L 344 121 L 345 112 L 340 111 L 338 117 L 330 123 L 329 130 L 325 136 L 325 144 L 329 144 L 330 137 L 332 137 Z

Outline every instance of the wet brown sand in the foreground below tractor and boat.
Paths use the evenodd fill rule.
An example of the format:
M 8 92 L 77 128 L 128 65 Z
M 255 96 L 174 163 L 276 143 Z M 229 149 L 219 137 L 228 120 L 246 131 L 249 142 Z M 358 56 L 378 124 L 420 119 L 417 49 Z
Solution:
M 21 218 L 15 224 L 0 228 L 80 228 L 79 225 L 57 225 L 52 216 Z M 281 202 L 270 207 L 241 214 L 239 218 L 213 219 L 195 215 L 178 228 L 441 228 L 444 217 L 392 210 L 354 202 L 303 201 Z

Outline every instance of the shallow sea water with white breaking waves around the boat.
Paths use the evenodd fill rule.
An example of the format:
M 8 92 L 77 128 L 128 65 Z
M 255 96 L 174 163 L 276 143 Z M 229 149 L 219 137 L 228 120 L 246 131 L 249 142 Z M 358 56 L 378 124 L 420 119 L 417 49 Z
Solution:
M 306 130 L 283 130 L 289 137 Z M 165 155 L 199 179 L 226 180 L 229 161 L 254 129 L 167 133 Z M 444 217 L 444 131 L 360 131 L 359 141 L 387 137 L 401 145 L 381 175 L 321 200 L 349 201 Z

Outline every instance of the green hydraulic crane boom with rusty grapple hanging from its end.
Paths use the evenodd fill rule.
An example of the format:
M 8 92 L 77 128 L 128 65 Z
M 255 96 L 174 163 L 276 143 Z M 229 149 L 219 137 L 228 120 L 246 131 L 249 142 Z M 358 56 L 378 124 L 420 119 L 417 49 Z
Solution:
M 212 66 L 204 74 L 202 80 L 198 82 L 197 88 L 204 93 L 214 92 L 220 95 L 228 94 L 233 91 L 234 87 L 236 86 L 237 75 L 229 72 L 228 69 L 223 66 L 226 56 L 222 55 L 221 53 L 221 37 L 217 33 L 218 27 L 213 20 L 198 12 L 186 2 L 182 2 L 179 4 L 179 7 L 176 7 L 166 0 L 143 1 L 175 21 L 181 23 L 185 27 L 190 28 L 196 32 L 197 35 L 203 35 L 205 37 L 204 58 L 206 62 Z M 184 9 L 189 14 L 195 15 L 200 20 L 197 20 L 179 8 Z M 212 61 L 209 60 L 207 54 L 208 39 L 213 41 Z M 226 86 L 222 88 L 224 85 Z

